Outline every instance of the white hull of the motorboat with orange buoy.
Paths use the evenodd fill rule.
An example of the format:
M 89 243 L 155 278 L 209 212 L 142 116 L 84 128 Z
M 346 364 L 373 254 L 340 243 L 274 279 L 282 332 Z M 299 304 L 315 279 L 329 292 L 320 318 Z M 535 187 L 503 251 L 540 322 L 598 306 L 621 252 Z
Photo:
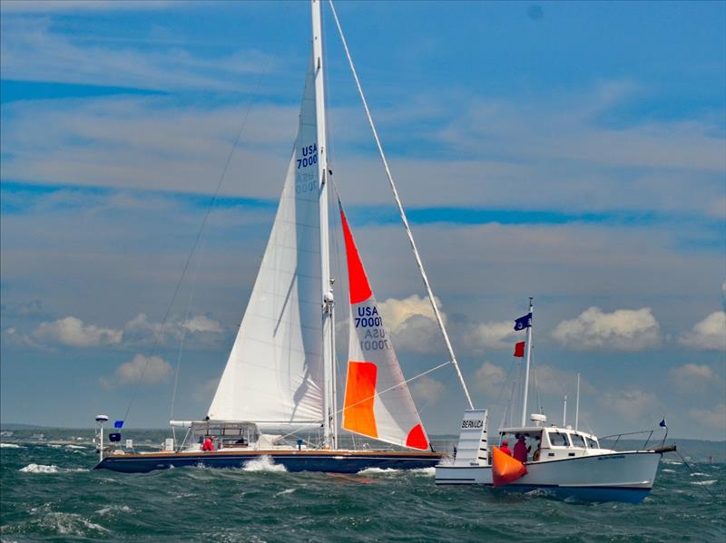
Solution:
M 588 501 L 637 503 L 652 489 L 661 456 L 655 451 L 627 451 L 527 462 L 525 476 L 500 488 L 544 490 L 558 497 Z M 439 464 L 436 482 L 493 486 L 492 468 Z

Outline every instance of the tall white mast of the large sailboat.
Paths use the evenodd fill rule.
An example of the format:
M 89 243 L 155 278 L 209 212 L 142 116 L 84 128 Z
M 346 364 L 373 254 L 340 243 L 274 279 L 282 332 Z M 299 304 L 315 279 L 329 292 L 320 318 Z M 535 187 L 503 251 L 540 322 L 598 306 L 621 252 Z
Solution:
M 322 356 L 323 356 L 323 429 L 326 448 L 336 447 L 336 415 L 333 391 L 335 368 L 333 367 L 333 294 L 330 282 L 329 233 L 328 233 L 328 153 L 326 152 L 325 84 L 323 80 L 322 17 L 319 0 L 312 0 L 312 53 L 315 77 L 315 112 L 318 125 L 318 186 L 320 207 L 320 276 L 322 307 Z

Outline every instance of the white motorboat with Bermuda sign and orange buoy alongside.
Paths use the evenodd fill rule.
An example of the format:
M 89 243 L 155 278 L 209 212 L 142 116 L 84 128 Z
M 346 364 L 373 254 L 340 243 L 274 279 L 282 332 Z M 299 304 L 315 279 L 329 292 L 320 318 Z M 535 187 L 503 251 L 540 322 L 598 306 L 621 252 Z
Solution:
M 515 330 L 526 331 L 519 423 L 499 428 L 497 444 L 492 446 L 488 443 L 487 410 L 467 410 L 454 457 L 445 459 L 436 467 L 436 484 L 538 490 L 558 498 L 585 501 L 642 501 L 652 490 L 662 454 L 675 451 L 675 445 L 663 446 L 663 437 L 660 446 L 654 444 L 646 448 L 652 438 L 651 430 L 608 436 L 620 439 L 622 435 L 649 432 L 641 450 L 613 451 L 602 447 L 597 436 L 579 428 L 579 374 L 574 428 L 566 423 L 566 396 L 561 425 L 548 424 L 542 412 L 531 414 L 527 421 L 533 313 L 534 305 L 530 298 L 528 313 L 515 320 Z M 515 349 L 515 355 L 524 356 L 524 353 L 517 354 Z M 664 419 L 661 427 L 666 429 L 667 437 Z M 505 449 L 509 440 L 518 442 L 513 454 L 508 447 Z

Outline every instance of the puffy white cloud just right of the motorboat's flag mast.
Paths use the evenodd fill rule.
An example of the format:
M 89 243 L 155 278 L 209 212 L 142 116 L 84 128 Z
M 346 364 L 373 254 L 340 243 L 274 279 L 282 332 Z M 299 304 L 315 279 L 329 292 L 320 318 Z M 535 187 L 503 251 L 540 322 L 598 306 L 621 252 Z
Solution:
M 650 307 L 603 313 L 593 306 L 577 318 L 561 322 L 552 335 L 572 349 L 641 351 L 659 343 L 660 326 Z

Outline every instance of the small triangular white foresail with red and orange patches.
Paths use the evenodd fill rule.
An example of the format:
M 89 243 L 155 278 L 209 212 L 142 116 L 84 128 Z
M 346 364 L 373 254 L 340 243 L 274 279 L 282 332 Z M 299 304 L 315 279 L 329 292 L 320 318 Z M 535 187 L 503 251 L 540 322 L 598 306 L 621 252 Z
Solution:
M 426 431 L 378 313 L 376 296 L 368 283 L 342 208 L 340 218 L 346 242 L 350 290 L 348 379 L 343 428 L 395 445 L 427 450 Z

